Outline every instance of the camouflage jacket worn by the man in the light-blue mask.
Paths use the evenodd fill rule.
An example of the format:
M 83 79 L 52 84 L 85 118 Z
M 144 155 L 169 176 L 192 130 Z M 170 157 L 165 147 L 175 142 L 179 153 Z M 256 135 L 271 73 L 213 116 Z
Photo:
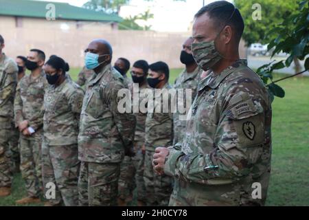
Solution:
M 111 65 L 89 80 L 78 135 L 78 158 L 82 162 L 118 163 L 124 150 L 133 148 L 136 120 L 131 113 L 119 112 L 120 89 L 128 87 Z

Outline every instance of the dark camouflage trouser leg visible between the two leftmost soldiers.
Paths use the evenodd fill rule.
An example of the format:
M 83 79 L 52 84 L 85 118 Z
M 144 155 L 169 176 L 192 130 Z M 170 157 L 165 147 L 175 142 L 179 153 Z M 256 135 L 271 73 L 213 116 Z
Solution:
M 19 166 L 21 163 L 21 154 L 19 152 L 19 129 L 12 126 L 12 135 L 10 138 L 10 158 L 11 167 Z

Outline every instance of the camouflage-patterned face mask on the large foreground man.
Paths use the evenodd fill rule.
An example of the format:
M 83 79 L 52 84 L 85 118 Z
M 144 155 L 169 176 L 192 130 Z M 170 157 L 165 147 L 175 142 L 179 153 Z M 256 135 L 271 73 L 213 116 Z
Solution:
M 214 41 L 192 43 L 191 50 L 197 65 L 204 71 L 213 67 L 222 58 L 218 50 L 216 50 Z

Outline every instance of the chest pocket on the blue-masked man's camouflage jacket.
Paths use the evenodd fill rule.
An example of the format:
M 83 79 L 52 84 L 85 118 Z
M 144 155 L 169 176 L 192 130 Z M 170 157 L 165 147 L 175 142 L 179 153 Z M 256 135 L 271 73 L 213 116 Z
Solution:
M 102 100 L 99 89 L 94 89 L 89 95 L 85 111 L 93 118 L 101 118 L 108 111 L 107 104 Z

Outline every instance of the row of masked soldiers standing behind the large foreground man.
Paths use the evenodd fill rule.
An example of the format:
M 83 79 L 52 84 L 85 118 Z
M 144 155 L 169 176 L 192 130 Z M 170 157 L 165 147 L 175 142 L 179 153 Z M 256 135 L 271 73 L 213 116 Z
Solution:
M 4 40 L 1 39 L 1 45 L 4 45 Z M 183 43 L 180 61 L 185 64 L 185 69 L 176 79 L 174 88 L 193 89 L 196 93 L 198 78 L 203 70 L 196 65 L 192 56 L 190 47 L 192 42 L 192 38 L 189 38 Z M 144 94 L 140 94 L 143 89 L 170 89 L 171 86 L 168 83 L 170 69 L 161 61 L 148 65 L 147 61 L 139 60 L 133 64 L 130 72 L 132 79 L 130 79 L 127 76 L 130 62 L 126 58 L 118 58 L 111 67 L 112 50 L 108 42 L 93 41 L 86 52 L 93 54 L 93 50 L 98 50 L 100 47 L 106 50 L 104 53 L 109 56 L 102 67 L 103 70 L 101 69 L 105 77 L 98 79 L 100 73 L 96 74 L 95 68 L 99 66 L 92 67 L 86 56 L 86 66 L 78 74 L 76 83 L 73 83 L 68 74 L 69 65 L 58 56 L 51 56 L 45 62 L 44 52 L 33 49 L 30 50 L 27 58 L 16 57 L 15 64 L 2 53 L 3 72 L 1 74 L 6 80 L 3 81 L 3 85 L 1 84 L 1 90 L 10 87 L 10 93 L 7 91 L 8 98 L 6 98 L 10 99 L 6 104 L 10 107 L 10 111 L 1 108 L 1 112 L 3 110 L 10 112 L 8 120 L 14 118 L 11 120 L 14 123 L 10 129 L 7 129 L 11 135 L 6 135 L 8 141 L 11 140 L 10 147 L 7 142 L 3 143 L 7 146 L 5 152 L 11 161 L 10 168 L 6 166 L 1 170 L 1 174 L 5 173 L 1 175 L 3 196 L 10 194 L 12 171 L 18 170 L 20 159 L 21 173 L 28 195 L 16 201 L 18 204 L 41 202 L 39 198 L 41 192 L 46 193 L 47 184 L 54 183 L 56 197 L 48 199 L 45 195 L 48 201 L 46 205 L 115 205 L 115 198 L 117 198 L 117 205 L 126 206 L 133 200 L 135 188 L 138 206 L 168 205 L 172 193 L 172 178 L 159 176 L 154 172 L 152 155 L 155 152 L 155 146 L 170 146 L 173 142 L 181 140 L 185 121 L 179 120 L 178 113 L 139 112 L 135 113 L 134 119 L 130 115 L 119 116 L 116 109 L 117 103 L 111 103 L 115 100 L 109 100 L 108 104 L 106 103 L 108 109 L 112 107 L 114 109 L 105 113 L 102 103 L 93 100 L 92 96 L 100 97 L 100 94 L 95 94 L 97 89 L 110 88 L 111 91 L 104 92 L 108 96 L 116 97 L 117 94 L 111 94 L 111 92 L 118 86 L 119 89 L 121 87 L 130 89 L 133 97 L 133 83 L 139 85 L 139 91 L 137 91 L 139 97 L 144 97 Z M 98 63 L 99 61 L 95 65 Z M 29 76 L 25 75 L 25 69 L 30 70 Z M 15 76 L 17 78 L 14 80 Z M 100 81 L 98 88 L 94 89 L 98 80 Z M 113 80 L 117 80 L 115 85 L 111 84 Z M 5 82 L 8 85 L 5 85 Z M 19 83 L 15 92 L 16 82 Z M 104 83 L 108 83 L 109 87 Z M 105 86 L 102 87 L 102 85 Z M 86 90 L 85 96 L 82 87 Z M 14 108 L 12 108 L 13 99 Z M 143 99 L 139 98 L 139 101 Z M 113 124 L 116 125 L 115 134 L 111 130 Z M 128 131 L 125 128 L 131 131 L 127 137 L 125 135 Z M 130 140 L 133 133 L 134 140 Z M 15 137 L 11 138 L 13 135 Z M 115 148 L 117 140 L 109 137 L 111 135 L 121 135 L 124 139 L 122 144 L 119 144 L 119 148 Z M 115 145 L 102 146 L 95 143 L 104 142 L 102 139 L 106 137 L 108 142 L 115 141 Z M 128 139 L 128 146 L 126 146 L 128 152 L 122 158 L 121 150 L 124 146 L 121 145 L 124 145 L 125 138 Z M 129 146 L 130 142 L 133 144 L 133 149 Z M 5 163 L 8 165 L 8 160 Z M 104 170 L 106 167 L 100 167 L 98 164 L 104 164 L 108 170 Z M 102 173 L 106 176 L 89 177 L 89 173 L 98 175 L 100 169 L 103 169 Z M 102 186 L 97 190 L 93 185 L 96 186 L 98 183 Z

